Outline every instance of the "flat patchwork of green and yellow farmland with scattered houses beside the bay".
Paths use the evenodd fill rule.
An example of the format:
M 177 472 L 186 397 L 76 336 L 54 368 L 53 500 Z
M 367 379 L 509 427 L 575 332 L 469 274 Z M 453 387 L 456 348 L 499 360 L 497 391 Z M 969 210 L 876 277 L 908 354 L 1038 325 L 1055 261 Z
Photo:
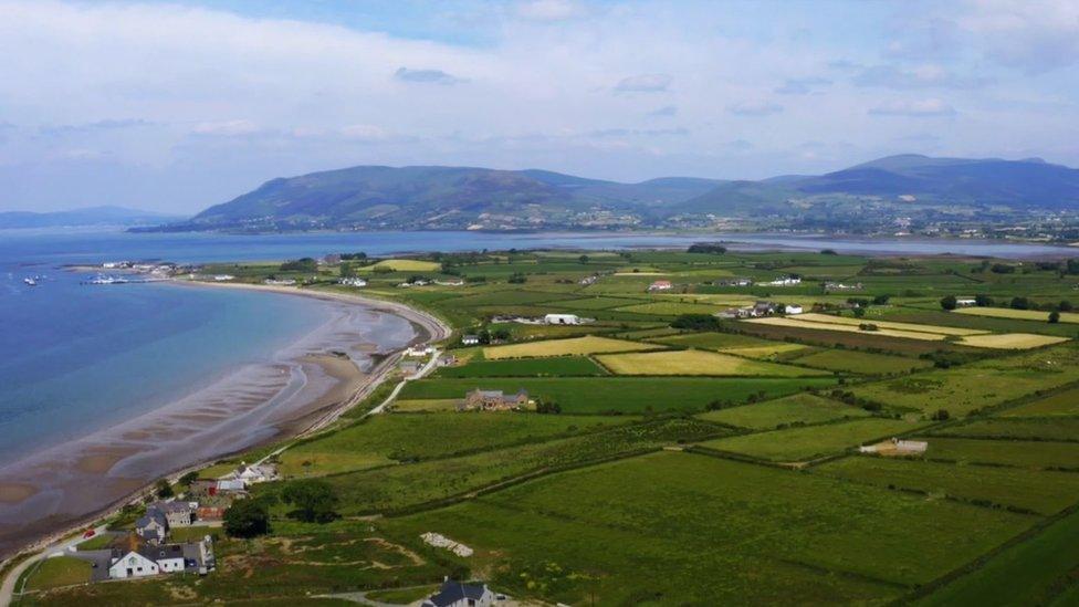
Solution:
M 136 265 L 144 264 L 111 271 Z M 1030 409 L 1036 417 L 1040 407 L 1058 407 L 1043 400 L 1067 399 L 1079 381 L 1069 325 L 1077 318 L 1066 302 L 1079 280 L 1060 264 L 997 265 L 681 251 L 165 264 L 161 278 L 175 281 L 402 302 L 437 316 L 446 332 L 379 358 L 379 383 L 329 423 L 172 477 L 167 491 L 159 482 L 102 524 L 82 527 L 20 572 L 18 592 L 46 604 L 99 603 L 125 596 L 126 586 L 147 603 L 169 603 L 177 592 L 210 603 L 235 599 L 231 588 L 242 588 L 266 599 L 432 607 L 582 604 L 595 592 L 598 604 L 619 604 L 652 586 L 597 552 L 611 541 L 605 521 L 617 512 L 635 521 L 620 541 L 640 554 L 662 552 L 652 565 L 662 576 L 651 584 L 664 599 L 694 603 L 687 588 L 708 576 L 687 577 L 698 565 L 675 544 L 698 540 L 636 517 L 633 509 L 662 520 L 706 513 L 693 524 L 711 536 L 730 523 L 725 512 L 752 507 L 769 513 L 758 517 L 761 530 L 771 528 L 763 537 L 790 528 L 800 507 L 795 496 L 829 512 L 867 510 L 879 524 L 899 516 L 916 528 L 946 516 L 943 533 L 952 537 L 989 533 L 989 517 L 1002 512 L 1046 516 L 1071 495 L 1079 500 L 1070 477 L 1057 478 L 1068 472 L 1050 474 L 1069 496 L 1051 506 L 1007 484 L 982 486 L 975 475 L 970 485 L 949 485 L 946 500 L 908 507 L 951 478 L 937 470 L 1007 471 L 1024 482 L 1046 474 L 949 460 L 967 449 L 978 423 L 1003 419 L 997 411 L 1038 407 Z M 897 286 L 933 271 L 944 285 L 937 291 Z M 1028 297 L 1005 282 L 1012 278 L 1054 284 L 1052 300 Z M 1016 376 L 1012 365 L 1027 375 Z M 967 374 L 977 369 L 1008 383 L 983 374 L 972 380 Z M 941 386 L 954 383 L 963 394 L 945 396 Z M 977 447 L 998 440 L 981 438 Z M 1054 442 L 1023 448 L 1040 453 L 1047 444 Z M 974 462 L 985 457 L 961 453 Z M 245 463 L 249 457 L 255 463 Z M 632 503 L 622 486 L 635 488 Z M 763 486 L 788 489 L 763 498 Z M 852 486 L 872 501 L 860 501 Z M 671 491 L 689 503 L 673 507 Z M 805 533 L 838 552 L 857 537 L 890 567 L 908 563 L 890 536 L 859 521 Z M 928 541 L 897 533 L 904 546 L 928 550 Z M 588 557 L 567 545 L 584 546 L 577 550 Z M 762 557 L 755 546 L 731 545 L 740 556 Z M 940 548 L 955 566 L 975 555 L 960 546 Z M 698 551 L 719 566 L 711 554 Z M 738 579 L 756 575 L 723 566 Z M 892 579 L 893 569 L 872 571 Z M 929 584 L 933 572 L 915 579 Z M 806 583 L 818 596 L 835 596 L 815 579 Z M 702 592 L 723 592 L 703 584 Z M 902 596 L 904 583 L 891 584 L 882 594 Z

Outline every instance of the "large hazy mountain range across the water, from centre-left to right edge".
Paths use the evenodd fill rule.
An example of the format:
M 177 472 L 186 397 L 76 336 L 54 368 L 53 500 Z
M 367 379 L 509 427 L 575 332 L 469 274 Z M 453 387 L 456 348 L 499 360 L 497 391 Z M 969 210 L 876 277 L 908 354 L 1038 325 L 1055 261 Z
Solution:
M 820 176 L 639 184 L 545 170 L 360 166 L 273 179 L 165 230 L 626 228 L 807 223 L 962 209 L 1079 208 L 1079 170 L 1040 159 L 890 156 Z M 893 212 L 894 211 L 894 212 Z

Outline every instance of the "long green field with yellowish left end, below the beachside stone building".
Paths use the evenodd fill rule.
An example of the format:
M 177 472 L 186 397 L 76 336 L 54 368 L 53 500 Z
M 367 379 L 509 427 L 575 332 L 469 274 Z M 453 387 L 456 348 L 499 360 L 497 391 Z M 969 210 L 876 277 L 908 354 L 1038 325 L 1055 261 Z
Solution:
M 397 414 L 376 416 L 281 456 L 287 477 L 336 474 L 589 432 L 621 421 L 611 417 L 536 414 Z M 419 437 L 438 440 L 418 440 Z

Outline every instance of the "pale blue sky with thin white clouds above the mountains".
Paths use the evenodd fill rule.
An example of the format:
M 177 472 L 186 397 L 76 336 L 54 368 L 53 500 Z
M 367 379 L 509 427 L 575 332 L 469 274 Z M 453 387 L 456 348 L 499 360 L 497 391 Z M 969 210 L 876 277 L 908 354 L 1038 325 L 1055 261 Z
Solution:
M 1079 3 L 0 0 L 0 210 L 195 212 L 359 164 L 1079 166 Z

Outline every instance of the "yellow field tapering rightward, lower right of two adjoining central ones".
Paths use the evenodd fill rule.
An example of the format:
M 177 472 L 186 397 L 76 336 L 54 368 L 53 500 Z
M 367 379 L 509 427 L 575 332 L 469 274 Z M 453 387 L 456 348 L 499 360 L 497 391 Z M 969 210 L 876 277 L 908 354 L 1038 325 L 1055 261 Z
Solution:
M 825 371 L 747 360 L 737 356 L 700 349 L 612 354 L 597 356 L 599 362 L 619 375 L 771 375 L 802 377 L 829 375 Z

